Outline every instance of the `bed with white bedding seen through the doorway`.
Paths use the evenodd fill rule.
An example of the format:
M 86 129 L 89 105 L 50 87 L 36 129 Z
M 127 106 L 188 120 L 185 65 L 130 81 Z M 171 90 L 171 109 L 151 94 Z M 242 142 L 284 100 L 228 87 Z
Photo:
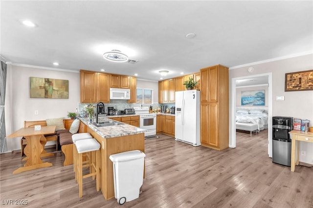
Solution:
M 266 108 L 240 108 L 236 109 L 236 129 L 262 131 L 268 128 L 268 110 Z

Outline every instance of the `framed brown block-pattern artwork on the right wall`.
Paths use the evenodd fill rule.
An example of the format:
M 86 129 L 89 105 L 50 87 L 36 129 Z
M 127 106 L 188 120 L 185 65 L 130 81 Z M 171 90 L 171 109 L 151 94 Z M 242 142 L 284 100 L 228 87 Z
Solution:
M 313 70 L 285 74 L 285 92 L 313 90 Z

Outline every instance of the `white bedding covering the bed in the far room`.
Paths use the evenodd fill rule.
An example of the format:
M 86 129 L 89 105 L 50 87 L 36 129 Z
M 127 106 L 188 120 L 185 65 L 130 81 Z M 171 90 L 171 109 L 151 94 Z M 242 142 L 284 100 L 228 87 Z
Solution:
M 236 113 L 236 122 L 252 123 L 258 125 L 258 130 L 268 128 L 268 114 L 267 113 Z

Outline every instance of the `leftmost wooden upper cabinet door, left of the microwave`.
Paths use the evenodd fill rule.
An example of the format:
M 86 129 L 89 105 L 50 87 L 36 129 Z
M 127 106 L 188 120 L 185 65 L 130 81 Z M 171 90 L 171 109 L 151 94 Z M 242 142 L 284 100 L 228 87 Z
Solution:
M 80 71 L 80 102 L 95 103 L 96 101 L 97 73 Z

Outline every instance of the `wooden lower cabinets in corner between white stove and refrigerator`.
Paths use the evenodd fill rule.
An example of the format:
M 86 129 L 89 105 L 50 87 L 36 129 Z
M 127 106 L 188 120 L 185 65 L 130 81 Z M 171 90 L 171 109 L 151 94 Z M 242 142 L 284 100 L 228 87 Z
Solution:
M 156 115 L 156 132 L 175 136 L 175 116 Z

